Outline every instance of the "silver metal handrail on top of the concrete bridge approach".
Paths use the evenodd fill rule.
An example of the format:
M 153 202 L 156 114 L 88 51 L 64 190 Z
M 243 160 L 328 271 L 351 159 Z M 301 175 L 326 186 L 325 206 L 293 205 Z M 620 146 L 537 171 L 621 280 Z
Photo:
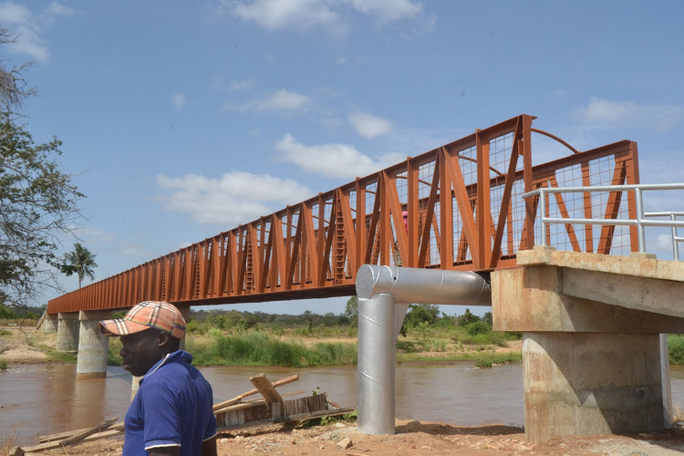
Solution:
M 673 238 L 677 241 L 684 241 L 684 238 L 677 237 L 677 228 L 684 227 L 684 221 L 678 221 L 677 215 L 684 215 L 684 212 L 644 212 L 644 202 L 641 192 L 644 191 L 663 191 L 663 190 L 684 190 L 684 183 L 651 183 L 651 184 L 634 184 L 634 185 L 596 185 L 596 186 L 582 186 L 582 187 L 540 187 L 532 192 L 523 193 L 523 198 L 527 199 L 531 196 L 539 195 L 540 219 L 542 222 L 542 245 L 546 245 L 547 223 L 576 223 L 576 224 L 599 224 L 599 225 L 630 225 L 637 226 L 637 241 L 638 251 L 646 252 L 646 234 L 644 228 L 647 226 L 664 226 L 672 228 Z M 546 217 L 546 193 L 581 193 L 581 192 L 627 192 L 634 191 L 635 202 L 637 206 L 636 219 L 574 219 L 574 218 L 557 218 Z M 670 214 L 677 214 L 670 217 L 670 220 L 646 220 L 646 217 L 667 216 Z M 673 244 L 675 241 L 673 241 Z M 675 248 L 675 251 L 679 249 Z M 676 254 L 676 259 L 679 259 L 679 252 Z

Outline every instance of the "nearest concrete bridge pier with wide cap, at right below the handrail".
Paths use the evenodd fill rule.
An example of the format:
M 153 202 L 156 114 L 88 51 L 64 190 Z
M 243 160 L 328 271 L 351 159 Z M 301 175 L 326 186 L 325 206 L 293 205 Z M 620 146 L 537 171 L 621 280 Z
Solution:
M 660 334 L 684 332 L 684 264 L 549 247 L 518 264 L 492 273 L 492 314 L 495 330 L 523 332 L 526 440 L 663 430 Z

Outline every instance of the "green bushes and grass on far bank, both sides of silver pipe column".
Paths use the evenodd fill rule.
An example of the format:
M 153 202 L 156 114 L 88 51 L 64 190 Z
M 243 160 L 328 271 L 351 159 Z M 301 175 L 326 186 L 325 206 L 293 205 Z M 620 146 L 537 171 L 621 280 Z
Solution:
M 495 351 L 521 335 L 492 331 L 491 322 L 490 313 L 481 318 L 466 310 L 462 316 L 447 316 L 438 306 L 410 306 L 397 341 L 397 359 L 480 361 L 483 367 L 520 361 L 520 353 Z M 199 310 L 188 322 L 186 349 L 200 366 L 348 365 L 357 362 L 357 326 L 356 296 L 337 316 Z M 118 349 L 110 349 L 110 358 L 118 358 L 116 353 Z

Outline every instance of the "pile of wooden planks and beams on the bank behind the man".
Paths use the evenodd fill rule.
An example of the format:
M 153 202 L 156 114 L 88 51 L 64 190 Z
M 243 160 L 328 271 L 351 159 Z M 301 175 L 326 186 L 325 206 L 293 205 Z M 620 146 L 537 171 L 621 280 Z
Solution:
M 324 417 L 344 415 L 354 409 L 342 409 L 336 402 L 327 399 L 326 393 L 313 394 L 304 398 L 283 399 L 304 394 L 304 389 L 280 394 L 276 388 L 287 385 L 299 379 L 299 376 L 281 378 L 271 383 L 264 374 L 251 377 L 249 381 L 254 385 L 250 389 L 233 399 L 224 400 L 213 406 L 219 432 L 231 430 L 245 430 L 262 427 L 269 424 L 285 424 L 316 420 Z M 246 399 L 261 394 L 261 399 Z M 38 438 L 39 445 L 32 447 L 15 447 L 9 456 L 28 456 L 39 451 L 64 448 L 76 445 L 82 441 L 98 440 L 115 437 L 124 432 L 123 422 L 116 422 L 116 418 L 102 421 L 92 428 L 69 430 L 58 434 L 50 434 Z

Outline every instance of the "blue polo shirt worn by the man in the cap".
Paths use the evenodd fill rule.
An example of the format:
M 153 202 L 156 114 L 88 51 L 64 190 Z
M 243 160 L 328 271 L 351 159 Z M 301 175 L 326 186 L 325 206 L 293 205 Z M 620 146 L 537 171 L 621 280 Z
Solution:
M 199 456 L 202 441 L 216 435 L 212 387 L 192 365 L 192 355 L 176 351 L 140 378 L 126 412 L 121 456 L 148 456 L 153 447 L 181 447 L 181 456 Z

